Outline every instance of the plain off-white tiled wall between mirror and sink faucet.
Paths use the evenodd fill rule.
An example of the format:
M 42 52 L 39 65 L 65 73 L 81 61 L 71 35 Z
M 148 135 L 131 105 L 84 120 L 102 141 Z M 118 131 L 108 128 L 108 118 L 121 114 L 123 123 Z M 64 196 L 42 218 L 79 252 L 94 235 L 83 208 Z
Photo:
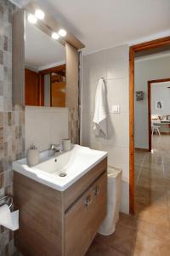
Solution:
M 26 149 L 37 143 L 42 151 L 68 137 L 68 109 L 26 107 Z

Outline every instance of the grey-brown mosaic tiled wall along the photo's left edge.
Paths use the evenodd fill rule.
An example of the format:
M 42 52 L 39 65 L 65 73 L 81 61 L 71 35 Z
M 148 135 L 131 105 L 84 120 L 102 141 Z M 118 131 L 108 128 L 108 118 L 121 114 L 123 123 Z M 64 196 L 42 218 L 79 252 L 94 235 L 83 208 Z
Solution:
M 12 12 L 0 1 L 0 197 L 13 195 L 12 162 L 25 152 L 25 113 L 12 104 Z M 0 255 L 14 253 L 14 234 L 0 226 Z

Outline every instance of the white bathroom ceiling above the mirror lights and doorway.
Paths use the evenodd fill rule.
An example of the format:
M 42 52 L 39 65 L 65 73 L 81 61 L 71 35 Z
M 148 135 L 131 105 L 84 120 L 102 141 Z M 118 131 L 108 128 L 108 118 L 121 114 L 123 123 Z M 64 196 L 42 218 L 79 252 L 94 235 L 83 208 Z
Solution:
M 28 0 L 13 0 L 23 6 Z M 169 0 L 37 0 L 86 45 L 85 53 L 170 35 Z

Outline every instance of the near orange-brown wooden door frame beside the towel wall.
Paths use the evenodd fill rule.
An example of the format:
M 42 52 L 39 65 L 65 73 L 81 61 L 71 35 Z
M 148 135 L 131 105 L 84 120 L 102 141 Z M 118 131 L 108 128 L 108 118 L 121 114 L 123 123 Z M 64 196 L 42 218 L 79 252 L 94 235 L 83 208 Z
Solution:
M 170 44 L 170 37 L 159 38 L 129 48 L 129 212 L 134 213 L 134 55 L 144 49 Z

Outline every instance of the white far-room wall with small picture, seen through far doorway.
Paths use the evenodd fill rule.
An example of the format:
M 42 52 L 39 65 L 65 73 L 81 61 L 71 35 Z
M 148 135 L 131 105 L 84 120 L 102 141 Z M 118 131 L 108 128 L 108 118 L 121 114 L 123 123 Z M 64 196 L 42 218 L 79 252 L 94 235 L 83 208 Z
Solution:
M 151 85 L 151 114 L 170 115 L 170 82 Z M 157 109 L 156 102 L 161 101 L 163 108 Z

